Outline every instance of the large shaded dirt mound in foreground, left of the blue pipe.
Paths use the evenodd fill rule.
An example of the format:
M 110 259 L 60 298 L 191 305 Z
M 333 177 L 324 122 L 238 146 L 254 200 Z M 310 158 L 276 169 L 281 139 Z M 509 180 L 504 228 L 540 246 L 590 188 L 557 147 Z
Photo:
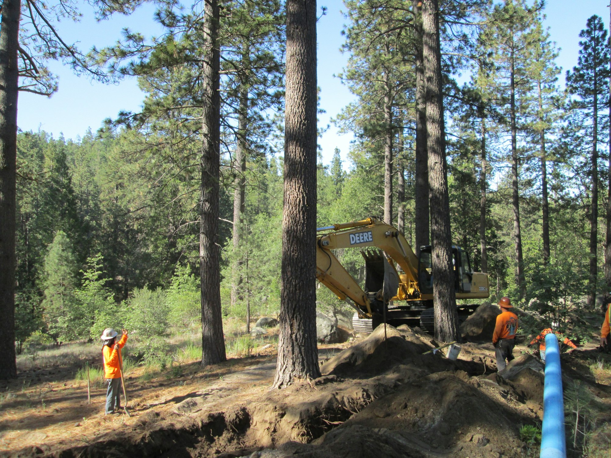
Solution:
M 482 442 L 491 444 L 491 452 L 513 456 L 521 447 L 518 426 L 511 421 L 515 413 L 494 402 L 477 385 L 460 371 L 431 374 L 376 399 L 346 425 L 395 430 L 412 442 L 426 438 L 429 451 L 452 456 L 473 456 L 471 449 Z M 480 444 L 474 444 L 473 437 L 483 432 L 483 439 L 475 439 Z

